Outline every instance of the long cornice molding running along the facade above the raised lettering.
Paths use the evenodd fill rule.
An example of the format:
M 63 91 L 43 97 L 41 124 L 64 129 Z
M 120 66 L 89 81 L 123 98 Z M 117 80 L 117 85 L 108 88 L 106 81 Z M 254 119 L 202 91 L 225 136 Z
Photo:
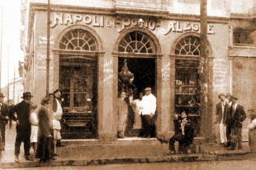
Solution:
M 62 4 L 51 4 L 52 12 L 70 12 L 70 13 L 88 13 L 88 14 L 105 14 L 105 15 L 131 15 L 131 16 L 148 16 L 163 20 L 182 20 L 182 21 L 198 21 L 200 15 L 196 14 L 179 14 L 170 13 L 166 9 L 150 9 L 150 8 L 124 8 L 124 7 L 85 7 L 85 6 L 70 6 Z M 30 10 L 46 11 L 47 4 L 45 3 L 30 3 Z M 208 23 L 228 23 L 230 17 L 207 16 Z

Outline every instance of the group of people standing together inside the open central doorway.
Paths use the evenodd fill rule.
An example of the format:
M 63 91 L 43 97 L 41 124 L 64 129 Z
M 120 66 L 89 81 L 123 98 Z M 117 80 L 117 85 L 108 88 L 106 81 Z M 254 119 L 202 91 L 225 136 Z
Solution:
M 151 93 L 151 88 L 145 88 L 144 94 L 139 93 L 137 99 L 133 96 L 127 96 L 125 91 L 121 91 L 118 99 L 118 130 L 117 137 L 124 138 L 127 124 L 129 123 L 129 106 L 134 112 L 133 128 L 139 130 L 141 137 L 154 137 L 156 97 Z

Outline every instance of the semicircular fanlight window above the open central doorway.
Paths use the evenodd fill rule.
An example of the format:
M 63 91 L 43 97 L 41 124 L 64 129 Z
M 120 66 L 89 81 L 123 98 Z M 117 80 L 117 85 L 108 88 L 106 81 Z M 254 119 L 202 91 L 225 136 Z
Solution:
M 154 45 L 148 35 L 139 31 L 127 34 L 119 43 L 119 52 L 154 53 Z

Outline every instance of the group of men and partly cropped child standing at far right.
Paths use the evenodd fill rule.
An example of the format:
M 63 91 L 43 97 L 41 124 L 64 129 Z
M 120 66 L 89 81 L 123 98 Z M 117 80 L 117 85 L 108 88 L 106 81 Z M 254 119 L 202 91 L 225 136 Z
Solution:
M 216 105 L 216 123 L 219 124 L 220 144 L 228 150 L 242 149 L 242 123 L 247 117 L 243 106 L 238 104 L 238 98 L 228 94 L 219 94 L 220 102 Z M 248 126 L 249 145 L 252 149 L 252 135 L 256 127 L 256 113 L 248 110 L 250 125 Z

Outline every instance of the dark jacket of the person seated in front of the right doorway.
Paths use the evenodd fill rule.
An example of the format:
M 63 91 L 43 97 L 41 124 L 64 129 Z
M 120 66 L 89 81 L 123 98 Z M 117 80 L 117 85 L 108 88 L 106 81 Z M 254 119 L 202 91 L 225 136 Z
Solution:
M 188 123 L 185 124 L 184 127 L 184 133 L 185 133 L 185 139 L 184 142 L 186 144 L 192 144 L 194 140 L 194 131 L 195 129 L 192 127 L 191 122 L 189 119 L 187 119 Z M 180 120 L 173 120 L 175 123 L 175 135 L 178 133 L 182 133 L 182 119 Z

